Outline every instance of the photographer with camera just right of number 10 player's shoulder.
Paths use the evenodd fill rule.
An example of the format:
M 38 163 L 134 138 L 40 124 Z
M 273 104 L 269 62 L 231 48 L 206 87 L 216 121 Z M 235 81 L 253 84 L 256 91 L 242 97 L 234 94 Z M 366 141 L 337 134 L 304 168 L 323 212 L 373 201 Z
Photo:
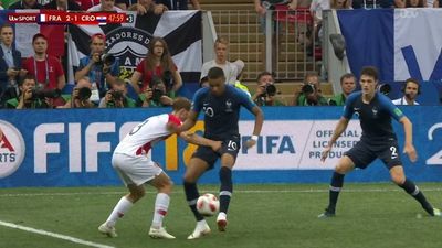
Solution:
M 257 75 L 256 82 L 256 93 L 252 96 L 252 100 L 257 106 L 285 106 L 276 96 L 277 89 L 273 83 L 273 75 L 271 73 L 261 73 Z

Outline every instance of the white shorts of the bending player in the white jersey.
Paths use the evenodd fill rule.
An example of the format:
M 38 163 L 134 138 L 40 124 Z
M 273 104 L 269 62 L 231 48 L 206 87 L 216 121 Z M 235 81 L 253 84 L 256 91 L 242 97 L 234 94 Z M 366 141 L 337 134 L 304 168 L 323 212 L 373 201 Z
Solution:
M 112 166 L 118 172 L 125 185 L 135 184 L 137 186 L 152 180 L 161 174 L 162 169 L 150 158 L 145 155 L 127 155 L 114 153 Z

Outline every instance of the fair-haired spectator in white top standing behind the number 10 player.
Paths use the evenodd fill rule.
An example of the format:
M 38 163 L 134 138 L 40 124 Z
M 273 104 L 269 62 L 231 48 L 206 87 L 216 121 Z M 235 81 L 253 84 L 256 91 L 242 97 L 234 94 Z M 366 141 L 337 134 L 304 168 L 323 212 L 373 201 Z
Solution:
M 238 67 L 228 61 L 229 41 L 224 37 L 218 37 L 214 42 L 215 58 L 208 61 L 202 65 L 201 77 L 208 75 L 212 67 L 220 67 L 224 72 L 227 84 L 234 85 L 238 76 Z

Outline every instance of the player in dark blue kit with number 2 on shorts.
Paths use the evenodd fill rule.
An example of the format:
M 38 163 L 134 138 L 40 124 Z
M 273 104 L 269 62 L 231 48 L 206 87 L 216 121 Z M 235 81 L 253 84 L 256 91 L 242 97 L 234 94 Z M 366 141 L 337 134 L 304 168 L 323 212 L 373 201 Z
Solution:
M 336 203 L 343 188 L 345 174 L 355 168 L 367 168 L 377 158 L 390 171 L 391 180 L 413 196 L 427 213 L 431 216 L 441 216 L 441 212 L 431 206 L 419 187 L 410 179 L 407 179 L 403 172 L 398 140 L 391 126 L 391 117 L 403 125 L 406 134 L 403 153 L 407 153 L 411 162 L 415 162 L 418 154 L 413 147 L 411 121 L 391 103 L 390 98 L 376 91 L 378 85 L 376 67 L 364 67 L 359 83 L 361 90 L 347 98 L 344 115 L 335 128 L 328 147 L 323 151 L 322 161 L 325 161 L 354 114 L 359 117 L 362 137 L 336 165 L 332 176 L 328 207 L 318 217 L 335 216 Z

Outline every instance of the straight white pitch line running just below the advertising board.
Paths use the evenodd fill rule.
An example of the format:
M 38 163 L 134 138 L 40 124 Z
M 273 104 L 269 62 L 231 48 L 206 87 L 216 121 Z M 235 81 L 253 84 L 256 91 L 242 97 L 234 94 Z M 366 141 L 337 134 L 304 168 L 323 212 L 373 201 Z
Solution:
M 217 190 L 200 188 L 200 192 L 215 192 Z M 359 193 L 359 192 L 401 192 L 402 188 L 343 188 L 344 192 Z M 429 187 L 423 188 L 424 192 L 441 192 L 442 187 Z M 262 193 L 327 193 L 328 187 L 325 186 L 324 190 L 235 190 L 234 193 L 244 194 L 262 194 Z M 1 197 L 20 197 L 20 196 L 73 196 L 73 195 L 120 195 L 127 192 L 54 192 L 54 193 L 18 193 L 18 194 L 1 194 Z M 146 194 L 157 194 L 157 192 L 146 192 Z M 172 194 L 183 194 L 182 192 L 172 192 Z

